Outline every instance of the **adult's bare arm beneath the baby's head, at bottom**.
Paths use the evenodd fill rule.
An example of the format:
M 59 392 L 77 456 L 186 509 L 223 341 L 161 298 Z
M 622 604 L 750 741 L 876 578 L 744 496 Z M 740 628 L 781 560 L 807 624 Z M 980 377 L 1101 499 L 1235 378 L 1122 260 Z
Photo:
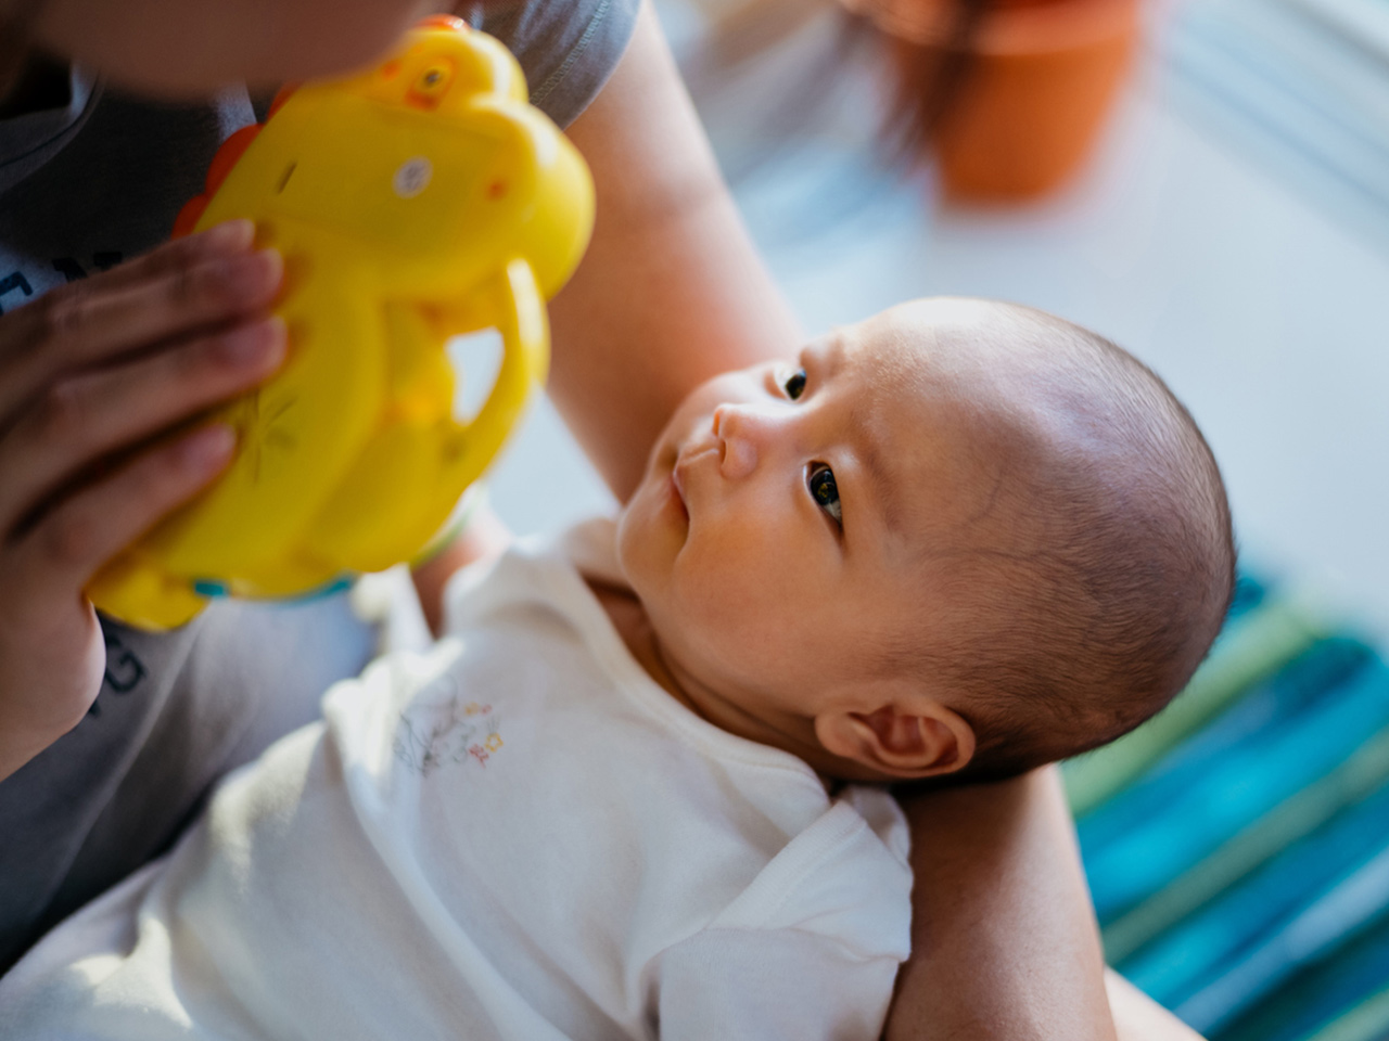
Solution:
M 1054 769 L 917 798 L 913 954 L 888 1041 L 1113 1041 L 1104 962 Z

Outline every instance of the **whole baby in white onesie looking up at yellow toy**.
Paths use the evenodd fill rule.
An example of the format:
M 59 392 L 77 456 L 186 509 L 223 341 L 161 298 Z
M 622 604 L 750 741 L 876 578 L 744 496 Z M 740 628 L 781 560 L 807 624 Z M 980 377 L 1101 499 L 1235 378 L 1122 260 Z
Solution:
M 696 390 L 615 532 L 460 573 L 428 655 L 0 980 L 0 1038 L 875 1038 L 911 887 L 882 786 L 1138 725 L 1232 572 L 1151 372 L 893 308 Z

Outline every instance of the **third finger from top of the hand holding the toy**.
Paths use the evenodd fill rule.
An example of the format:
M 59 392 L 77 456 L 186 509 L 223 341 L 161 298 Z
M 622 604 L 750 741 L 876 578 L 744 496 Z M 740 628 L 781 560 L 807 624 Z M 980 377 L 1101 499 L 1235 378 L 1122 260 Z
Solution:
M 283 323 L 256 319 L 60 379 L 0 440 L 0 533 L 26 522 L 36 504 L 92 461 L 247 390 L 283 357 Z

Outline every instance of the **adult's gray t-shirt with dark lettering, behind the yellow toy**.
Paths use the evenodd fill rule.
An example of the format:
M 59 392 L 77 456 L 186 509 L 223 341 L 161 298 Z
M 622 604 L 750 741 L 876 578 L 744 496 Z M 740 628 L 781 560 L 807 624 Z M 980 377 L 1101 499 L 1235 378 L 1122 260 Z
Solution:
M 561 126 L 617 65 L 636 0 L 492 3 Z M 254 119 L 244 92 L 207 105 L 143 101 L 71 76 L 64 108 L 0 121 L 0 312 L 168 237 L 221 142 Z M 218 601 L 150 634 L 103 619 L 106 682 L 69 734 L 0 783 L 0 973 L 49 927 L 167 849 L 211 783 L 318 713 L 374 634 L 342 595 Z

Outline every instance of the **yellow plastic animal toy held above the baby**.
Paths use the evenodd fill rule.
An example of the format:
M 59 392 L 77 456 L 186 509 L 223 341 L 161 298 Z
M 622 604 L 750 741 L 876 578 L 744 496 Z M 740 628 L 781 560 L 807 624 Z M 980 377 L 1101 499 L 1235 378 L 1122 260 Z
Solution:
M 239 433 L 228 472 L 89 586 L 150 629 L 208 595 L 303 594 L 415 558 L 543 380 L 544 300 L 593 222 L 578 151 L 526 104 L 511 54 L 454 18 L 278 100 L 207 182 L 175 232 L 256 222 L 285 257 L 290 354 L 218 411 Z M 444 341 L 488 328 L 500 372 L 463 423 Z

